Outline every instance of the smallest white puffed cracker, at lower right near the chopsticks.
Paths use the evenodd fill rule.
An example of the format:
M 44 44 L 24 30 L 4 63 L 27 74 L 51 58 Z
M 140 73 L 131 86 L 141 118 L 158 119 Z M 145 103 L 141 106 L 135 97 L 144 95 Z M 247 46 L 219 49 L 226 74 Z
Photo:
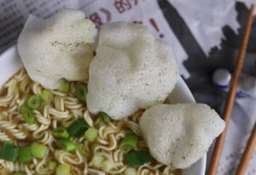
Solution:
M 207 152 L 225 123 L 207 104 L 158 104 L 139 125 L 154 159 L 183 169 Z

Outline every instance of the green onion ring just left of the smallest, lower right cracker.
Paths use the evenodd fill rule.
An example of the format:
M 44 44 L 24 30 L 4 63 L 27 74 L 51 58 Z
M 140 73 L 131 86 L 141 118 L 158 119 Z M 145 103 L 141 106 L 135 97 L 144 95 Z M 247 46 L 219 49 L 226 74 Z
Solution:
M 137 147 L 138 136 L 135 133 L 129 133 L 122 139 L 120 148 L 122 150 L 131 150 Z

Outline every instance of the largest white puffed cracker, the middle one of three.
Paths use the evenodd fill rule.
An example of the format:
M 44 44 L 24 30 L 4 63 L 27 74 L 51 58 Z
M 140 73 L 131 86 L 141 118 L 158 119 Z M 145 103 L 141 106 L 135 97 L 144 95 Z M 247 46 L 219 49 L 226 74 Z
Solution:
M 89 74 L 88 109 L 119 120 L 162 103 L 177 83 L 177 63 L 145 26 L 115 22 L 102 26 Z

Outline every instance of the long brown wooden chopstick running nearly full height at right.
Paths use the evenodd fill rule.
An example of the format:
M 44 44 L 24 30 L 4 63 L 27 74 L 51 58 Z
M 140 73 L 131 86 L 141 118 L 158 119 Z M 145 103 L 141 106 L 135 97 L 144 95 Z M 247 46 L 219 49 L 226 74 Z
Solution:
M 250 12 L 247 18 L 247 25 L 245 28 L 245 32 L 243 35 L 242 43 L 241 43 L 241 48 L 239 50 L 239 54 L 236 60 L 236 68 L 233 73 L 231 82 L 230 82 L 230 91 L 228 94 L 228 99 L 225 104 L 224 108 L 224 121 L 226 123 L 224 132 L 219 135 L 219 137 L 216 140 L 216 144 L 214 147 L 214 150 L 212 152 L 212 160 L 210 163 L 210 167 L 208 170 L 208 175 L 216 175 L 217 170 L 218 170 L 218 161 L 224 146 L 224 139 L 226 135 L 227 128 L 229 127 L 230 124 L 230 115 L 233 109 L 233 105 L 236 99 L 236 88 L 238 84 L 238 79 L 241 73 L 241 68 L 243 65 L 243 61 L 245 59 L 245 54 L 247 52 L 247 43 L 249 39 L 249 34 L 251 32 L 252 24 L 253 24 L 253 11 L 254 11 L 254 5 L 251 6 Z

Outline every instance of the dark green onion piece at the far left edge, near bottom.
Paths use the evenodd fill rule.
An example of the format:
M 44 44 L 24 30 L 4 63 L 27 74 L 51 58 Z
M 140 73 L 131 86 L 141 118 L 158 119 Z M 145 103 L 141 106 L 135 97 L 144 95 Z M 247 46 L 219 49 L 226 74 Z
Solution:
M 8 141 L 3 141 L 3 146 L 0 150 L 0 159 L 5 161 L 16 161 L 19 154 L 19 148 Z

